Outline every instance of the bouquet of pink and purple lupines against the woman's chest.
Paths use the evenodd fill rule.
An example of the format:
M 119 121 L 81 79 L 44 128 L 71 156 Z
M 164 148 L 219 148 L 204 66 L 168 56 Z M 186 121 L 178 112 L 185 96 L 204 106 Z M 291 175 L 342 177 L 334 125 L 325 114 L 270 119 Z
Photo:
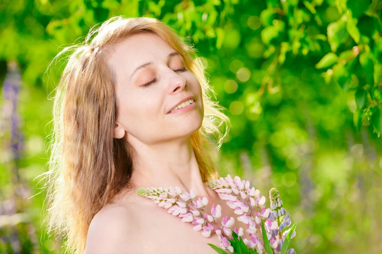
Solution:
M 196 231 L 201 231 L 205 237 L 212 233 L 218 235 L 220 247 L 210 245 L 220 254 L 225 250 L 236 254 L 295 254 L 294 249 L 288 249 L 290 239 L 296 235 L 296 223 L 291 225 L 289 214 L 282 207 L 279 191 L 272 188 L 269 192 L 270 208 L 265 208 L 265 197 L 260 197 L 260 191 L 250 188 L 249 181 L 234 179 L 228 175 L 225 178 L 208 182 L 227 205 L 234 209 L 239 217 L 237 220 L 247 225 L 246 233 L 249 239 L 243 238 L 243 228 L 232 229 L 235 219 L 224 217 L 221 225 L 217 218 L 221 217 L 221 206 L 212 205 L 211 214 L 205 212 L 207 198 L 196 198 L 194 190 L 189 193 L 179 187 L 140 188 L 137 194 L 154 200 L 168 213 L 181 217 L 182 222 L 191 222 Z

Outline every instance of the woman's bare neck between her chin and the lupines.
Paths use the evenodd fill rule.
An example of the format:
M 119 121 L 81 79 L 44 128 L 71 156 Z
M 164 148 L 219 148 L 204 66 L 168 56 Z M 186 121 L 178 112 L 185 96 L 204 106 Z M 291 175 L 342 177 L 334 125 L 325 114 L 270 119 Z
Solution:
M 209 197 L 211 189 L 201 179 L 191 138 L 183 141 L 147 145 L 129 140 L 135 149 L 134 170 L 130 181 L 133 191 L 144 187 L 178 186 L 193 189 L 198 196 Z

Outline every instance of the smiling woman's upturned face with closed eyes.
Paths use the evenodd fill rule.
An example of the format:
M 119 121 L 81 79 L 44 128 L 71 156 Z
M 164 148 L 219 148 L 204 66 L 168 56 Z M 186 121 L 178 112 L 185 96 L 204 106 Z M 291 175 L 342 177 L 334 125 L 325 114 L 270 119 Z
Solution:
M 126 131 L 129 142 L 158 144 L 188 138 L 201 127 L 201 85 L 160 36 L 130 36 L 114 47 L 108 61 L 117 81 L 115 138 Z M 183 108 L 170 112 L 183 101 Z

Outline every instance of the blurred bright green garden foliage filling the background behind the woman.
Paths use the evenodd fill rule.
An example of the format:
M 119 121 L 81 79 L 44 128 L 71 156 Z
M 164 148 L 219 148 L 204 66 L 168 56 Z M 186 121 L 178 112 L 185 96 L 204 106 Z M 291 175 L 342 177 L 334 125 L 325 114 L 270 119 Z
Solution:
M 221 175 L 280 190 L 297 253 L 382 252 L 381 0 L 2 0 L 0 253 L 60 253 L 35 178 L 64 62 L 45 72 L 117 15 L 159 18 L 198 49 L 233 126 Z

